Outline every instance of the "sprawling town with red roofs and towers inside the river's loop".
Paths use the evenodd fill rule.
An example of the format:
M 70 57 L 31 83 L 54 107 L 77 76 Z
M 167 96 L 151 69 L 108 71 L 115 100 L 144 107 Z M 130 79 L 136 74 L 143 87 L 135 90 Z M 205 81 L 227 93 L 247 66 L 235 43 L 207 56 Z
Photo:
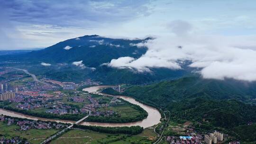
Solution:
M 93 95 L 78 91 L 83 86 L 99 85 L 96 81 L 84 81 L 80 84 L 74 82 L 61 82 L 48 78 L 30 77 L 23 71 L 1 67 L 5 71 L 0 74 L 6 77 L 0 81 L 1 94 L 0 101 L 8 101 L 6 109 L 34 113 L 48 113 L 54 115 L 73 115 L 83 116 L 91 113 L 91 116 L 110 117 L 117 116 L 118 112 L 108 110 L 110 106 L 122 105 L 123 101 L 117 98 L 94 98 Z M 120 88 L 119 88 L 120 89 Z M 105 100 L 102 100 L 105 99 Z M 57 118 L 57 117 L 56 117 Z

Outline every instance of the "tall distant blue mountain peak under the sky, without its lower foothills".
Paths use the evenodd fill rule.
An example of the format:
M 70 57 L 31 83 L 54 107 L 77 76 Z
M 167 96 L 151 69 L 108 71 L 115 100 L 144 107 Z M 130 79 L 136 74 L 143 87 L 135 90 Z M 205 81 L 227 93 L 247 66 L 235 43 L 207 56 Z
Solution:
M 148 39 L 150 38 L 128 40 L 105 38 L 98 35 L 81 36 L 27 54 L 2 56 L 0 60 L 51 64 L 83 61 L 88 67 L 97 67 L 122 56 L 136 58 L 145 54 L 146 47 L 138 48 L 135 44 Z

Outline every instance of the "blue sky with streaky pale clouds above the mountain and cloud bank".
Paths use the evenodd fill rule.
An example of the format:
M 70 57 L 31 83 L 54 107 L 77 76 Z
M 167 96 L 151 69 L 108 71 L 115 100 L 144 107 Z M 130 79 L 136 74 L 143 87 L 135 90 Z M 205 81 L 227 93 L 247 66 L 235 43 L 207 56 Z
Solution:
M 83 35 L 254 36 L 255 0 L 0 0 L 0 49 Z

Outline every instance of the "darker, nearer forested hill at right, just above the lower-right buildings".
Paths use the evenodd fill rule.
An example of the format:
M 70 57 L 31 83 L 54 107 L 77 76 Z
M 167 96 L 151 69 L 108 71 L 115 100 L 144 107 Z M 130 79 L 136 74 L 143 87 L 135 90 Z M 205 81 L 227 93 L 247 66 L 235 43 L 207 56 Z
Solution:
M 170 103 L 167 109 L 171 111 L 172 119 L 199 122 L 206 129 L 209 126 L 232 128 L 256 122 L 256 106 L 237 100 L 185 99 Z

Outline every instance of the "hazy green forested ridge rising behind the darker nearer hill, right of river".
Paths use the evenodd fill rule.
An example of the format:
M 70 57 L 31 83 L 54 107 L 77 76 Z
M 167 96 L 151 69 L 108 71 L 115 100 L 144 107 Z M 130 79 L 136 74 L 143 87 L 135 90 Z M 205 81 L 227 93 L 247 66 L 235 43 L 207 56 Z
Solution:
M 191 76 L 146 86 L 133 86 L 125 94 L 161 107 L 167 107 L 173 101 L 198 97 L 248 101 L 256 98 L 256 82 L 231 79 L 221 81 Z

